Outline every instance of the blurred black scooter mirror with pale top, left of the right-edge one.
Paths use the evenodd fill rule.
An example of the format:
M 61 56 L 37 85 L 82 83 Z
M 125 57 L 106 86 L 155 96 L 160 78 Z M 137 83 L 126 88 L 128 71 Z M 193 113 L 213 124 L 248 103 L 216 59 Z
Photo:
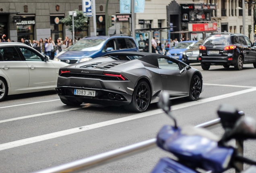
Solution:
M 238 111 L 236 107 L 226 103 L 220 105 L 217 113 L 225 130 L 233 129 L 237 120 L 244 115 L 244 112 Z

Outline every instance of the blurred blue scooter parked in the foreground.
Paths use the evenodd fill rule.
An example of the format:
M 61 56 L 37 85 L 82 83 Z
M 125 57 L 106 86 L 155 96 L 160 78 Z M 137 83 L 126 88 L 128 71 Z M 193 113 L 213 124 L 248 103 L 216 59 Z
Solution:
M 157 145 L 177 159 L 161 158 L 151 173 L 200 173 L 198 168 L 210 173 L 222 173 L 231 168 L 240 172 L 237 162 L 256 165 L 256 161 L 243 157 L 235 147 L 227 144 L 231 139 L 241 143 L 246 139 L 256 139 L 256 121 L 243 116 L 242 111 L 227 104 L 220 106 L 218 115 L 225 129 L 220 139 L 203 128 L 178 127 L 170 111 L 167 93 L 161 95 L 159 107 L 173 120 L 174 125 L 161 128 L 157 134 Z M 255 167 L 251 170 L 253 168 L 255 171 Z

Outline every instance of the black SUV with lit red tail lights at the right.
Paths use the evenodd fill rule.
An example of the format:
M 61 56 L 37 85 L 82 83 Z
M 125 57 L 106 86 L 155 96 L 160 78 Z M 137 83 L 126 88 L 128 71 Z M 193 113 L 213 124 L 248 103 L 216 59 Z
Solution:
M 211 65 L 234 66 L 236 70 L 242 70 L 243 65 L 249 63 L 256 68 L 256 43 L 252 44 L 243 34 L 211 34 L 199 47 L 198 60 L 203 70 L 209 70 Z

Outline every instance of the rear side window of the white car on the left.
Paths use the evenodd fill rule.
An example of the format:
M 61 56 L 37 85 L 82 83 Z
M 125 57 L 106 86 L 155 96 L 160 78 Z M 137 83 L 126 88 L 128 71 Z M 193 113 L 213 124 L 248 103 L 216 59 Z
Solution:
M 0 48 L 4 61 L 21 61 L 21 58 L 14 47 Z

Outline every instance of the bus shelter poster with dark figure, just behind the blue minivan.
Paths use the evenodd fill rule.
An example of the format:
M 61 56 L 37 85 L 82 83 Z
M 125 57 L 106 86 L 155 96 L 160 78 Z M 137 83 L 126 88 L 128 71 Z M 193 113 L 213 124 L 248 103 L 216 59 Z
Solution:
M 149 32 L 136 32 L 135 39 L 141 52 L 149 52 Z

